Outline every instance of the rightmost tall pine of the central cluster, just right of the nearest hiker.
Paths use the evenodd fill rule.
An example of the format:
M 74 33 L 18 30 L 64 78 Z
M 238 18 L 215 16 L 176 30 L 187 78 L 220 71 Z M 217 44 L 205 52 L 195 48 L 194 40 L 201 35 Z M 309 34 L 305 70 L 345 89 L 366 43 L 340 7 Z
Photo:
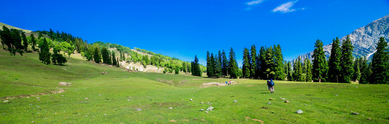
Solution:
M 283 53 L 280 45 L 274 45 L 274 61 L 275 61 L 275 79 L 285 79 L 285 68 L 283 65 Z

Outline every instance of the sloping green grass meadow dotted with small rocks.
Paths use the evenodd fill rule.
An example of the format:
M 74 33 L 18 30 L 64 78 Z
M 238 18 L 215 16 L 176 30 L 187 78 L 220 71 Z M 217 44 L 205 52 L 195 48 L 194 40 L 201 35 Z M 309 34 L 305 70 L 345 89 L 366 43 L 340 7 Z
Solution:
M 130 73 L 71 57 L 46 65 L 34 53 L 0 50 L 0 123 L 389 123 L 389 85 L 275 81 L 269 93 L 265 80 Z M 235 84 L 202 85 L 229 80 Z

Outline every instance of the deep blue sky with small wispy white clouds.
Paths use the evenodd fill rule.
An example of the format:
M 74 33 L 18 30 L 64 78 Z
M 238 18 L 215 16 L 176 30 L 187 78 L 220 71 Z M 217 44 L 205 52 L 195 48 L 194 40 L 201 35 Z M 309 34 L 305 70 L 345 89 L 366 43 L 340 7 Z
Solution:
M 70 32 L 184 61 L 233 47 L 280 44 L 285 60 L 329 44 L 380 17 L 388 0 L 3 0 L 0 22 Z

